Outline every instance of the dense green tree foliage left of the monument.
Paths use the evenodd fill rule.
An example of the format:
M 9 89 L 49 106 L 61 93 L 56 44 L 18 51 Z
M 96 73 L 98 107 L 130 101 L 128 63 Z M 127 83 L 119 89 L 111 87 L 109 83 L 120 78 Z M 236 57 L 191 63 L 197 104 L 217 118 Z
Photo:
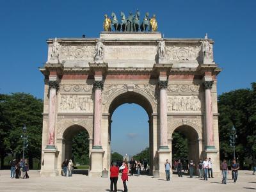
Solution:
M 0 94 L 0 156 L 1 167 L 7 154 L 22 157 L 22 127 L 26 125 L 28 147 L 26 157 L 33 166 L 33 158 L 40 159 L 42 143 L 43 101 L 26 93 Z

